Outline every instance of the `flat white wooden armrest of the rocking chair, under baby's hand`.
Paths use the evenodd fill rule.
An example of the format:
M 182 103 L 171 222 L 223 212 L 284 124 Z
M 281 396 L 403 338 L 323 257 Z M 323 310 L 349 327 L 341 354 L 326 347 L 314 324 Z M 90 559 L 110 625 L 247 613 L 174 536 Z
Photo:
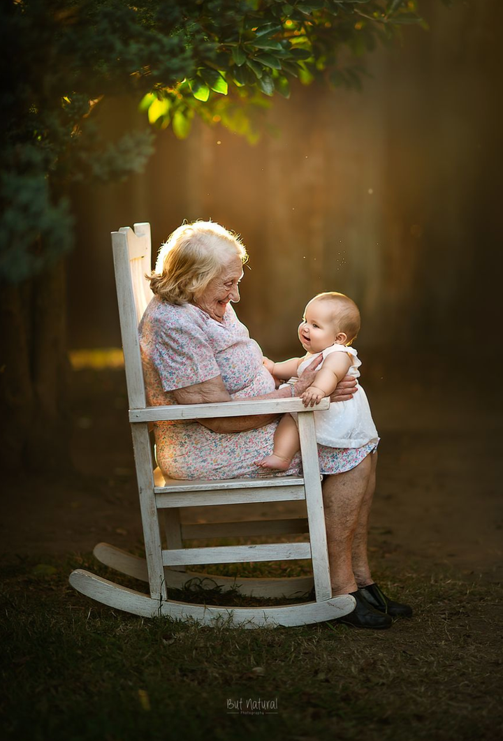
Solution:
M 223 402 L 221 404 L 176 404 L 130 409 L 130 422 L 167 422 L 176 419 L 207 419 L 208 417 L 250 416 L 253 414 L 284 414 L 328 409 L 330 399 L 322 399 L 316 407 L 304 407 L 302 399 L 261 399 L 254 402 Z

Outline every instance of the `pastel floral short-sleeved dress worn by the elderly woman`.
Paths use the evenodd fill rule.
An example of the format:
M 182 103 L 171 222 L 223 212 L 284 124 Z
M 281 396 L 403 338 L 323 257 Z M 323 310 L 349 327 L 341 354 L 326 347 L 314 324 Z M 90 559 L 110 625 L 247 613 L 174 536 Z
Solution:
M 231 396 L 244 398 L 274 391 L 261 348 L 250 339 L 230 304 L 223 321 L 216 322 L 196 306 L 176 306 L 154 296 L 141 319 L 139 335 L 148 405 L 176 404 L 174 390 L 216 376 L 221 376 Z M 276 421 L 258 430 L 218 433 L 199 422 L 156 422 L 156 459 L 170 479 L 264 476 L 257 462 L 273 452 L 277 425 Z M 374 447 L 319 445 L 320 471 L 349 471 Z M 286 473 L 299 475 L 301 471 L 297 453 Z

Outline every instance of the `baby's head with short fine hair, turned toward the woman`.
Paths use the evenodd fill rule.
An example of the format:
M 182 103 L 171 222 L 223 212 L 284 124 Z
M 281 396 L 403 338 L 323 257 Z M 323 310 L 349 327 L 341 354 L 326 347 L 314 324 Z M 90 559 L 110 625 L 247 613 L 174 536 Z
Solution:
M 350 345 L 360 330 L 360 312 L 344 293 L 319 293 L 307 304 L 299 326 L 299 339 L 308 353 L 321 353 L 330 345 Z

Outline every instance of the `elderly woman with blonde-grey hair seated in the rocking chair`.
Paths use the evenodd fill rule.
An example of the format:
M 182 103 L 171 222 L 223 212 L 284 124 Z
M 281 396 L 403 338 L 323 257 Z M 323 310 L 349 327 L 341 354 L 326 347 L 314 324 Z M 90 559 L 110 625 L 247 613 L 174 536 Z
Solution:
M 247 252 L 239 239 L 213 222 L 176 229 L 161 247 L 150 276 L 155 294 L 139 328 L 150 405 L 201 404 L 231 399 L 300 396 L 313 382 L 318 360 L 293 387 L 276 389 L 262 350 L 239 322 L 231 302 Z M 344 379 L 333 401 L 350 398 Z M 273 415 L 157 422 L 156 456 L 173 479 L 259 476 L 257 462 L 273 450 L 279 418 Z M 373 582 L 367 562 L 367 521 L 375 486 L 373 445 L 340 450 L 319 445 L 333 595 L 352 594 L 356 608 L 344 622 L 388 628 L 391 616 L 410 608 L 392 602 Z M 288 474 L 299 475 L 299 454 Z

